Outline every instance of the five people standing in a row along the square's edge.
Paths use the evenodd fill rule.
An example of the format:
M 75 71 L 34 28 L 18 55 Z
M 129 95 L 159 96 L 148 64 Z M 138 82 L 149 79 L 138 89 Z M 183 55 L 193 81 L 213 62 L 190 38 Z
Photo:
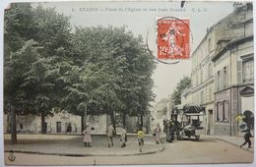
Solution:
M 156 144 L 160 144 L 160 131 L 161 131 L 160 124 L 157 124 L 157 127 L 154 130 Z M 112 124 L 110 123 L 110 125 L 106 128 L 107 146 L 108 147 L 113 146 L 113 137 L 114 137 L 115 133 L 116 132 L 115 132 Z M 83 142 L 84 142 L 85 146 L 92 147 L 91 134 L 92 134 L 91 128 L 89 126 L 86 126 L 85 130 L 83 131 L 83 135 L 84 135 Z M 144 136 L 145 136 L 145 134 L 143 132 L 143 129 L 142 129 L 142 127 L 140 127 L 137 132 L 137 138 L 138 138 L 140 152 L 142 152 L 142 148 L 144 145 Z M 126 134 L 125 127 L 123 126 L 123 127 L 121 127 L 121 130 L 120 130 L 121 147 L 126 147 L 126 141 L 127 141 L 127 134 Z

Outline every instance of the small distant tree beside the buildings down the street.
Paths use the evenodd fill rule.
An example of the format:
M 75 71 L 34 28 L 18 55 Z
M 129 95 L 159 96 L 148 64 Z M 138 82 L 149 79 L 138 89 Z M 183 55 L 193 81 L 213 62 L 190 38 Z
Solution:
M 181 103 L 181 93 L 185 88 L 190 86 L 190 83 L 191 83 L 191 80 L 188 77 L 184 77 L 182 80 L 180 80 L 179 83 L 177 83 L 177 85 L 171 95 L 174 105 Z

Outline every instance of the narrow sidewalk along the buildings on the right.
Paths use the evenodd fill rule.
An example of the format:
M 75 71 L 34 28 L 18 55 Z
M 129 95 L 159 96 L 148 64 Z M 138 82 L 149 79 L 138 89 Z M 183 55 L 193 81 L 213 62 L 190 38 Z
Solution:
M 230 137 L 230 136 L 204 136 L 205 138 L 213 138 L 213 139 L 221 139 L 225 142 L 228 142 L 234 146 L 239 147 L 243 142 L 244 139 L 243 137 Z M 245 149 L 248 150 L 250 152 L 254 152 L 254 138 L 251 138 L 251 143 L 252 143 L 252 148 L 247 148 L 247 144 L 243 145 L 243 147 L 241 147 L 241 149 Z

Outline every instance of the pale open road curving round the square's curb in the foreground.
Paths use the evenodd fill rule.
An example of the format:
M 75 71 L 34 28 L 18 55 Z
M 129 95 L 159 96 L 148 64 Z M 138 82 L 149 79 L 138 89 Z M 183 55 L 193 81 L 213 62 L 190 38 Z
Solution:
M 138 165 L 138 164 L 198 164 L 252 163 L 254 154 L 219 139 L 201 141 L 178 140 L 163 143 L 164 150 L 156 154 L 136 156 L 70 157 L 15 153 L 16 160 L 8 165 Z

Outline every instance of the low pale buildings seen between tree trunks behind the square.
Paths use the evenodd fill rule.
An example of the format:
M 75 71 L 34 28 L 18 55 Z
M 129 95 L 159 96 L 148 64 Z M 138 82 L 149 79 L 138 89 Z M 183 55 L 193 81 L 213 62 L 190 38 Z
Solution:
M 141 120 L 143 119 L 143 120 Z M 71 125 L 71 134 L 81 134 L 81 116 L 61 112 L 55 113 L 53 117 L 45 118 L 45 127 L 47 134 L 65 134 L 68 125 Z M 120 114 L 115 114 L 116 131 L 119 132 L 120 126 L 123 126 Z M 104 134 L 106 127 L 110 124 L 108 115 L 92 116 L 87 115 L 86 125 L 89 125 L 95 134 Z M 150 131 L 150 116 L 129 117 L 126 116 L 125 127 L 128 133 L 137 133 L 139 123 L 143 122 L 145 133 Z M 34 133 L 41 131 L 41 120 L 37 115 L 17 115 L 17 132 L 18 133 Z M 4 114 L 4 132 L 10 133 L 10 116 Z

